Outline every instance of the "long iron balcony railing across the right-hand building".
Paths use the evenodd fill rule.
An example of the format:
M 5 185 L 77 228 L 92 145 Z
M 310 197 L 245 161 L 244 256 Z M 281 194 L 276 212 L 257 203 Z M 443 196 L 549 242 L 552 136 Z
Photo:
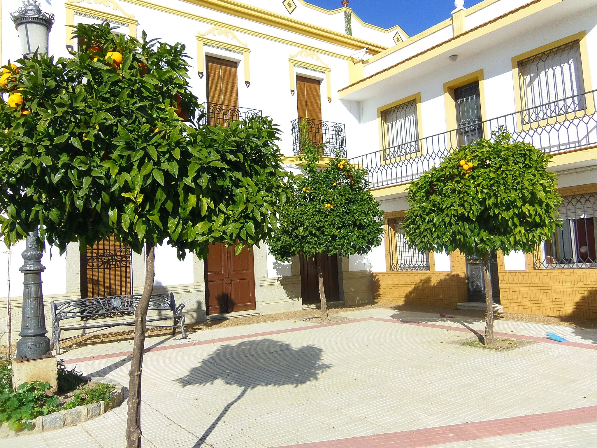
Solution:
M 487 139 L 500 126 L 512 138 L 550 154 L 597 145 L 597 90 L 475 124 Z M 476 134 L 478 135 L 478 134 Z M 470 127 L 436 134 L 350 159 L 369 172 L 370 188 L 411 182 L 438 165 L 470 137 Z

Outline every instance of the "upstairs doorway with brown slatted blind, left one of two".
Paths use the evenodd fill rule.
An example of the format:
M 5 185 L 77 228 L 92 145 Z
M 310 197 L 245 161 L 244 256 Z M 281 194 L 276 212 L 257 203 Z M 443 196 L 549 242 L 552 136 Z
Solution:
M 211 56 L 205 57 L 205 63 L 209 122 L 225 127 L 239 119 L 237 64 Z

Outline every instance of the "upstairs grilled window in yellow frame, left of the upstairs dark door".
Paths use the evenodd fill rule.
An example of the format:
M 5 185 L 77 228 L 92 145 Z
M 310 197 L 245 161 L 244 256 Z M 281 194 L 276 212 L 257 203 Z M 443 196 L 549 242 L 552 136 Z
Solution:
M 418 152 L 417 100 L 381 112 L 384 158 Z

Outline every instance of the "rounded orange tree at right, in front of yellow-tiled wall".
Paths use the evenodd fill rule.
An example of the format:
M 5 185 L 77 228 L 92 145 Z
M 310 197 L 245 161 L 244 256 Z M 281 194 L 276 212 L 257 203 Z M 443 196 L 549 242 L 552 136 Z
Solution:
M 461 146 L 408 189 L 411 208 L 402 226 L 411 246 L 483 260 L 486 346 L 496 345 L 490 253 L 530 253 L 559 225 L 562 200 L 547 171 L 550 157 L 500 128 L 491 140 Z

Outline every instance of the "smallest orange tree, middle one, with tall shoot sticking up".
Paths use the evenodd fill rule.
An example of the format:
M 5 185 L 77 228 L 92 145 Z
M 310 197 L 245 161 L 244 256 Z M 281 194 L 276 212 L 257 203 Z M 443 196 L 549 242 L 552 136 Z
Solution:
M 301 135 L 305 175 L 291 182 L 288 195 L 281 193 L 279 227 L 267 244 L 278 261 L 301 253 L 316 257 L 321 316 L 327 321 L 321 255 L 362 255 L 379 246 L 383 211 L 368 191 L 367 171 L 337 157 L 319 169 L 321 146 Z

